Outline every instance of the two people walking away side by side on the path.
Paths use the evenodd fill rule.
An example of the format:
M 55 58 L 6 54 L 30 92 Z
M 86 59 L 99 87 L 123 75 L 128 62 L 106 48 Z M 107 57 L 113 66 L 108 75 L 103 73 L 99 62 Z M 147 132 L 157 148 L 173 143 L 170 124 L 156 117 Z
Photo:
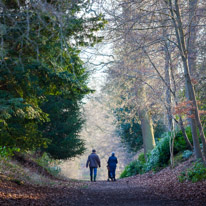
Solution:
M 108 181 L 111 179 L 112 181 L 116 181 L 115 179 L 115 171 L 117 167 L 117 158 L 115 157 L 115 153 L 112 152 L 112 155 L 109 157 L 107 161 L 108 168 Z M 90 169 L 90 180 L 96 182 L 97 177 L 97 168 L 101 167 L 101 162 L 99 156 L 96 154 L 96 150 L 93 149 L 92 153 L 88 156 L 86 167 L 89 166 Z

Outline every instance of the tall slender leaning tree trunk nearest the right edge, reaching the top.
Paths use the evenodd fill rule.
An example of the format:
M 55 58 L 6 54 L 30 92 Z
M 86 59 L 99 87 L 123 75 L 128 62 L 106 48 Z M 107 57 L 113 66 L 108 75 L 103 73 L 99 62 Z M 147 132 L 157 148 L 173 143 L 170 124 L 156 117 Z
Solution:
M 195 98 L 195 91 L 191 82 L 191 77 L 190 77 L 190 71 L 189 71 L 189 65 L 188 65 L 188 56 L 187 56 L 187 51 L 186 51 L 186 44 L 185 44 L 185 36 L 184 36 L 184 31 L 183 31 L 183 26 L 182 26 L 182 19 L 180 15 L 180 9 L 179 9 L 179 1 L 175 0 L 175 10 L 173 9 L 172 1 L 169 0 L 169 7 L 170 7 L 170 13 L 172 16 L 172 20 L 174 23 L 175 31 L 176 31 L 176 38 L 178 41 L 178 47 L 180 50 L 182 62 L 183 62 L 183 67 L 184 67 L 184 77 L 185 77 L 185 87 L 186 87 L 186 93 L 187 93 L 187 98 L 189 101 L 193 103 L 194 110 L 191 110 L 191 118 L 190 118 L 190 126 L 192 130 L 192 137 L 193 137 L 193 143 L 194 143 L 194 150 L 195 150 L 195 156 L 197 159 L 202 159 L 202 152 L 200 149 L 200 144 L 197 136 L 197 125 L 200 130 L 201 134 L 201 140 L 204 142 L 203 143 L 203 150 L 204 150 L 204 155 L 206 155 L 206 144 L 205 144 L 205 137 L 204 137 L 204 132 L 202 129 L 202 124 L 200 122 L 199 118 L 199 112 L 197 108 L 197 102 Z M 174 13 L 176 14 L 176 18 L 174 16 Z M 192 118 L 194 116 L 194 118 Z M 205 145 L 205 146 L 204 146 Z

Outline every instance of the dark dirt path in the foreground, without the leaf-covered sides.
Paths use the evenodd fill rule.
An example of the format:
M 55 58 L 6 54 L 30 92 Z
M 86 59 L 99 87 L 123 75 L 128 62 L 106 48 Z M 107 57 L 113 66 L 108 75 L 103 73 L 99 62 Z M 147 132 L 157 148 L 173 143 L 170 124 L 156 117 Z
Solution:
M 77 191 L 73 206 L 183 206 L 185 202 L 166 199 L 150 191 L 150 188 L 135 186 L 121 180 L 89 183 Z M 74 198 L 74 197 L 73 197 Z M 63 199 L 61 199 L 63 201 Z

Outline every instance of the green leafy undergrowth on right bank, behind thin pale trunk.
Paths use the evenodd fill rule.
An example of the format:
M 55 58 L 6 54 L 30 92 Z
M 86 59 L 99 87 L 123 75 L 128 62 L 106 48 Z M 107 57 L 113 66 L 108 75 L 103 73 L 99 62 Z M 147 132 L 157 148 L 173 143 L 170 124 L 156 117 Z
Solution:
M 191 137 L 191 131 L 187 128 L 188 137 Z M 147 154 L 147 161 L 144 159 L 144 154 L 139 155 L 139 158 L 125 167 L 125 170 L 120 175 L 120 178 L 133 176 L 136 174 L 143 174 L 149 171 L 157 172 L 170 164 L 170 132 L 162 135 L 156 147 Z M 186 142 L 182 137 L 181 131 L 175 135 L 174 144 L 174 160 L 175 165 L 179 162 L 185 161 L 191 157 L 192 151 L 187 150 Z

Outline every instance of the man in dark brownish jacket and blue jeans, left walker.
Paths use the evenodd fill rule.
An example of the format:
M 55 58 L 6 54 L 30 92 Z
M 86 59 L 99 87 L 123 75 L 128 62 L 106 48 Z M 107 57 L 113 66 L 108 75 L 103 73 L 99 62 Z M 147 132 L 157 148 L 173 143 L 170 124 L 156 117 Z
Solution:
M 88 156 L 86 167 L 90 168 L 90 180 L 96 182 L 97 168 L 101 167 L 99 156 L 96 154 L 96 150 L 93 149 L 92 153 Z M 93 175 L 94 174 L 94 175 Z M 94 177 L 94 179 L 93 179 Z

